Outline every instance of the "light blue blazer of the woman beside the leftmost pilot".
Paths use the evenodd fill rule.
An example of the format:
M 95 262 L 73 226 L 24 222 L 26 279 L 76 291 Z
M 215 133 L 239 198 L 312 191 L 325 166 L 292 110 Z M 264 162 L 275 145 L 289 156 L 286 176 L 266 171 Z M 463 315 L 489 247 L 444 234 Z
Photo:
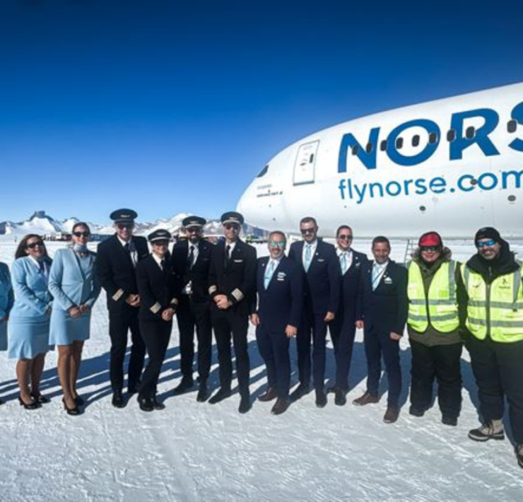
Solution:
M 53 310 L 68 310 L 87 303 L 93 307 L 100 294 L 100 282 L 95 273 L 96 255 L 89 252 L 90 262 L 81 267 L 71 249 L 58 250 L 54 254 L 49 274 L 49 291 L 54 297 Z

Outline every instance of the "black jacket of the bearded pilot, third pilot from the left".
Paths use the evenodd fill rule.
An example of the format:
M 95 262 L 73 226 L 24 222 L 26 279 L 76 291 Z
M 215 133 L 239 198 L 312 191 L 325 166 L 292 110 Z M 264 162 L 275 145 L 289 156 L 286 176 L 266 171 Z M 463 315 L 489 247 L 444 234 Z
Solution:
M 189 269 L 187 257 L 189 255 L 189 242 L 182 240 L 172 248 L 172 272 L 176 277 L 177 295 L 187 283 L 191 281 L 191 298 L 195 302 L 206 302 L 208 294 L 208 273 L 211 268 L 211 257 L 214 245 L 201 239 L 198 244 L 198 257 L 192 269 Z

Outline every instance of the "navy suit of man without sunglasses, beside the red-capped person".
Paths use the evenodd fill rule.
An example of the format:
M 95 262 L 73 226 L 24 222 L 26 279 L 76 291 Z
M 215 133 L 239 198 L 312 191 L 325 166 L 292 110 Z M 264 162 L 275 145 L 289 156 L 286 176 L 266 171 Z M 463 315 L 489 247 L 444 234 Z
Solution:
M 399 364 L 399 341 L 392 340 L 390 333 L 403 335 L 409 300 L 407 298 L 407 270 L 389 261 L 380 282 L 372 291 L 373 262 L 363 269 L 361 294 L 358 296 L 359 320 L 365 323 L 365 355 L 367 356 L 367 390 L 379 395 L 381 358 L 389 379 L 389 407 L 397 407 L 401 392 L 401 366 Z

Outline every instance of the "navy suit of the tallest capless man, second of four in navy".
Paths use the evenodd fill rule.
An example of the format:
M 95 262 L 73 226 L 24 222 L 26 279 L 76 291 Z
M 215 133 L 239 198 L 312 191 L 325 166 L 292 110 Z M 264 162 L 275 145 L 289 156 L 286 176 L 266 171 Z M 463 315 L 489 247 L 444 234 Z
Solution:
M 311 374 L 310 342 L 314 346 L 314 383 L 318 392 L 323 392 L 325 380 L 325 339 L 327 338 L 327 312 L 338 311 L 339 278 L 341 276 L 338 257 L 333 245 L 317 241 L 315 254 L 308 271 L 302 261 L 303 241 L 290 245 L 289 258 L 300 265 L 305 274 L 302 322 L 298 329 L 298 372 L 300 384 L 309 386 Z

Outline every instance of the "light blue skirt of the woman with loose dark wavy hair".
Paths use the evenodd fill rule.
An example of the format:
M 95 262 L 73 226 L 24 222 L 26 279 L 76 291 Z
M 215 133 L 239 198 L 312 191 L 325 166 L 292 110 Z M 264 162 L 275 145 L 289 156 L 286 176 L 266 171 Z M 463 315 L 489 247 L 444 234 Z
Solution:
M 31 317 L 9 317 L 7 356 L 9 359 L 33 359 L 54 349 L 49 344 L 49 316 L 44 322 Z

